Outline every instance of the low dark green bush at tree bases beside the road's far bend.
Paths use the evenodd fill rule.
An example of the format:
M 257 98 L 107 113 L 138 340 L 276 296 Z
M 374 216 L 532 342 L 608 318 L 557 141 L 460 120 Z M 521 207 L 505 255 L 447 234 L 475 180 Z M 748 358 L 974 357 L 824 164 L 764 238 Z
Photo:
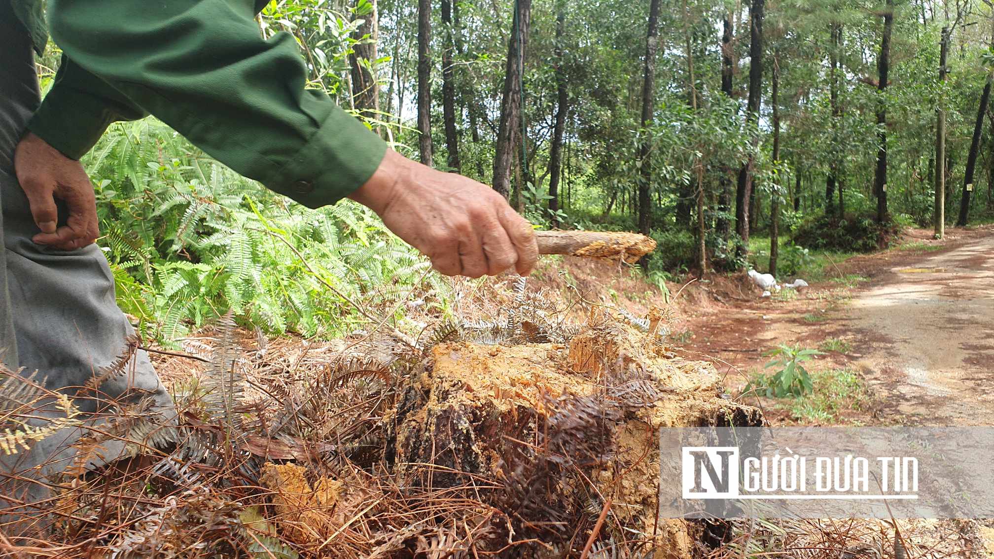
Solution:
M 886 249 L 901 230 L 896 223 L 878 224 L 870 217 L 822 215 L 798 226 L 794 243 L 816 250 L 869 253 Z

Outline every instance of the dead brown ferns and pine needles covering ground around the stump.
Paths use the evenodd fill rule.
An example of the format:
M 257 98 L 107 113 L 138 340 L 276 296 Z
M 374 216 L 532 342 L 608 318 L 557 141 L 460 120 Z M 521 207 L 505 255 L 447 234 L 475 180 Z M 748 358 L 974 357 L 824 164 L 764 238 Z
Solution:
M 491 296 L 465 285 L 459 304 L 479 307 Z M 498 304 L 510 310 L 498 312 Z M 231 322 L 184 340 L 186 352 L 200 359 L 160 357 L 158 367 L 175 396 L 178 426 L 141 400 L 113 407 L 116 416 L 93 430 L 103 435 L 84 436 L 77 451 L 92 457 L 106 441 L 125 440 L 132 458 L 95 471 L 70 468 L 50 480 L 49 498 L 27 511 L 0 510 L 0 555 L 554 557 L 584 543 L 591 559 L 651 552 L 644 541 L 611 542 L 604 554 L 606 535 L 597 541 L 593 528 L 609 504 L 586 510 L 575 503 L 570 513 L 546 504 L 547 490 L 559 490 L 547 476 L 580 487 L 611 454 L 614 422 L 606 419 L 616 419 L 623 404 L 605 403 L 609 386 L 599 397 L 549 401 L 545 434 L 507 472 L 456 472 L 459 482 L 439 486 L 431 479 L 442 466 L 396 464 L 391 411 L 399 387 L 423 373 L 436 343 L 551 341 L 576 331 L 561 319 L 572 303 L 556 307 L 518 286 L 487 305 L 494 321 L 425 328 L 416 347 L 372 335 L 322 344 L 268 341 Z M 95 391 L 99 379 L 92 384 Z M 55 396 L 37 383 L 29 388 L 29 398 L 2 410 L 0 433 Z M 574 456 L 565 456 L 571 445 Z

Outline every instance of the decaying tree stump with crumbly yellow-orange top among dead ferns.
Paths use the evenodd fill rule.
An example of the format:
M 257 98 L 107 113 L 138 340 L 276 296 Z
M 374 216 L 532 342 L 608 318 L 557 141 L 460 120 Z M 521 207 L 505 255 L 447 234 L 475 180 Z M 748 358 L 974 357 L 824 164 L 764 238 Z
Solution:
M 645 405 L 627 407 L 609 422 L 610 444 L 605 446 L 612 449 L 604 451 L 613 452 L 592 468 L 589 480 L 596 486 L 593 494 L 612 498 L 613 518 L 626 529 L 655 534 L 654 557 L 692 556 L 700 524 L 656 524 L 658 430 L 757 426 L 762 417 L 754 408 L 722 398 L 721 376 L 710 364 L 674 358 L 655 337 L 605 320 L 567 344 L 435 346 L 430 365 L 414 375 L 396 415 L 388 418 L 396 430 L 398 469 L 407 471 L 409 479 L 439 488 L 481 477 L 507 482 L 520 473 L 510 466 L 520 463 L 516 457 L 551 437 L 550 417 L 557 409 L 573 409 L 571 400 L 589 409 L 590 402 L 624 399 L 628 393 L 651 396 Z M 579 442 L 584 443 L 589 445 L 589 438 Z M 549 487 L 549 503 L 576 502 L 581 500 L 578 491 L 591 492 L 582 483 L 541 481 Z M 601 501 L 593 500 L 596 518 Z M 580 547 L 587 536 L 578 536 Z

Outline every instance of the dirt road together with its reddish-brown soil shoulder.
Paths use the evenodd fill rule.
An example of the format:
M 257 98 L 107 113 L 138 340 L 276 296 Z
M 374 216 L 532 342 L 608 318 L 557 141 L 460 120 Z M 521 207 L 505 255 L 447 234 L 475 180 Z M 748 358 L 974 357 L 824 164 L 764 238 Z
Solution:
M 715 362 L 735 388 L 778 344 L 818 348 L 837 339 L 850 349 L 827 352 L 808 368 L 863 375 L 873 404 L 844 420 L 994 425 L 994 229 L 950 230 L 943 241 L 930 236 L 912 230 L 905 244 L 917 249 L 839 263 L 837 278 L 793 299 L 760 298 L 745 278 L 702 285 L 698 290 L 719 302 L 681 303 L 679 328 L 686 330 L 677 332 L 678 345 L 687 358 Z M 760 404 L 771 423 L 792 423 L 771 402 Z

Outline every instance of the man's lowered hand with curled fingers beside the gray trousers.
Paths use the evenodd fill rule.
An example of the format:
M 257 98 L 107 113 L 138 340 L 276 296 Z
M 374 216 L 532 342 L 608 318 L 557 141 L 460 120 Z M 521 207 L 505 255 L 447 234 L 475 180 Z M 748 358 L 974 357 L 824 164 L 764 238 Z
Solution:
M 32 240 L 63 251 L 82 249 L 99 235 L 96 198 L 83 165 L 28 132 L 14 152 L 17 180 L 28 197 L 31 215 L 41 233 Z M 66 225 L 58 227 L 56 199 L 69 208 Z

